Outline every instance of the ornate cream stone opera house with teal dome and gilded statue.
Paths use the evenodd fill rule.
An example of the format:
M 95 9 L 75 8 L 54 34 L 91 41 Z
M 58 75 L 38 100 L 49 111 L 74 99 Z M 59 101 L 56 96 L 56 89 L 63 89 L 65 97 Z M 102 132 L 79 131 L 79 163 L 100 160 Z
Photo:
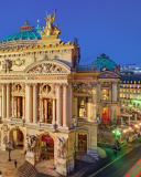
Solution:
M 25 22 L 1 40 L 0 147 L 22 147 L 33 165 L 50 156 L 67 175 L 76 152 L 97 154 L 97 117 L 119 116 L 120 76 L 113 65 L 78 65 L 77 40 L 62 42 L 54 19 L 55 11 L 43 30 Z

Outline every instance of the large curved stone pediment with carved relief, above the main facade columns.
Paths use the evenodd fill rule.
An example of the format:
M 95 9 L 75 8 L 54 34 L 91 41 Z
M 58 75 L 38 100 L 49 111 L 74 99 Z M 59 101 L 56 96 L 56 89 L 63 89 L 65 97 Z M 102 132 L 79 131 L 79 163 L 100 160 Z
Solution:
M 70 67 L 58 61 L 41 61 L 28 66 L 24 72 L 30 74 L 62 74 L 70 73 Z

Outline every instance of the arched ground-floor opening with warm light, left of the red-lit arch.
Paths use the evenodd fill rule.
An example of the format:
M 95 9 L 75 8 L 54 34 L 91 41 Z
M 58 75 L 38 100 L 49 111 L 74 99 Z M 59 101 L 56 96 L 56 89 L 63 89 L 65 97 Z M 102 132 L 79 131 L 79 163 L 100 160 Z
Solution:
M 22 131 L 20 131 L 19 128 L 13 128 L 10 132 L 9 135 L 9 142 L 11 143 L 11 145 L 13 146 L 13 148 L 20 148 L 23 149 L 24 146 L 24 135 L 22 133 Z

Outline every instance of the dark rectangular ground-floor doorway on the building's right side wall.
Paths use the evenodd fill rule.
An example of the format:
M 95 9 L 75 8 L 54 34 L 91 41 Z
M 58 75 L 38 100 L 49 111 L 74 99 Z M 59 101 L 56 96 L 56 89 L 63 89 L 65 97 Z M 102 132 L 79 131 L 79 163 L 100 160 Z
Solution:
M 78 134 L 78 149 L 79 152 L 87 152 L 87 135 Z

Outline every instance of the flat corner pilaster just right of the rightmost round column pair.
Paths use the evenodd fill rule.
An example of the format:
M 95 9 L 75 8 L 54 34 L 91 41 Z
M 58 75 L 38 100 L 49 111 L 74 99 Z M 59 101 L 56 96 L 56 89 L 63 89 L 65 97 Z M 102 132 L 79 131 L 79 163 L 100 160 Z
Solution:
M 73 126 L 72 123 L 72 83 L 68 84 L 68 127 Z

